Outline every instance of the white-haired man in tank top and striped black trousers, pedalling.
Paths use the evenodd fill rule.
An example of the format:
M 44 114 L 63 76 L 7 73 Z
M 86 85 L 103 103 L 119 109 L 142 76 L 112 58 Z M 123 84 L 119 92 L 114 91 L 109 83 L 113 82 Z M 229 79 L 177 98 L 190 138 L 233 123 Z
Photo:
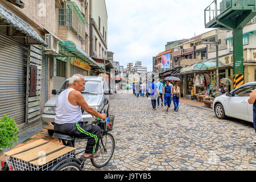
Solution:
M 98 139 L 101 129 L 96 125 L 89 125 L 82 121 L 81 107 L 87 113 L 106 120 L 105 114 L 100 114 L 90 107 L 81 92 L 85 88 L 85 80 L 82 75 L 73 75 L 69 86 L 60 93 L 56 103 L 55 133 L 63 133 L 77 138 L 88 139 L 82 160 L 97 158 Z

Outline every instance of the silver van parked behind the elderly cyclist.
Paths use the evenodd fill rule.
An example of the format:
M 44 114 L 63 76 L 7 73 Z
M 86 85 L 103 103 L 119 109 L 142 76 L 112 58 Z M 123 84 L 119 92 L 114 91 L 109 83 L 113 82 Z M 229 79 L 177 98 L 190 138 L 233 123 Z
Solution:
M 93 109 L 96 111 L 100 111 L 104 106 L 104 99 L 107 98 L 109 100 L 110 90 L 108 84 L 102 77 L 97 76 L 84 76 L 85 79 L 85 89 L 82 91 L 82 95 L 84 96 L 85 101 L 89 106 L 92 106 Z M 52 90 L 52 94 L 55 96 L 48 100 L 44 105 L 44 113 L 42 114 L 42 123 L 43 129 L 47 129 L 49 135 L 53 134 L 54 130 L 54 122 L 55 122 L 55 107 L 57 98 L 59 94 L 68 88 L 70 78 L 63 82 L 63 85 L 60 87 L 59 90 Z M 109 104 L 104 106 L 106 115 L 109 115 Z M 82 119 L 85 122 L 92 123 L 94 121 L 92 115 L 86 113 L 83 109 L 82 112 Z

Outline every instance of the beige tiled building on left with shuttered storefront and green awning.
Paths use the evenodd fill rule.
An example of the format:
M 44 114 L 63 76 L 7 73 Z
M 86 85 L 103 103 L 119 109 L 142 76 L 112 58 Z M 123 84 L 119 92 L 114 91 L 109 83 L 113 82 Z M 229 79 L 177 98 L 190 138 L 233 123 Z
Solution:
M 102 69 L 89 57 L 89 7 L 88 0 L 0 0 L 0 115 L 26 127 L 66 78 Z

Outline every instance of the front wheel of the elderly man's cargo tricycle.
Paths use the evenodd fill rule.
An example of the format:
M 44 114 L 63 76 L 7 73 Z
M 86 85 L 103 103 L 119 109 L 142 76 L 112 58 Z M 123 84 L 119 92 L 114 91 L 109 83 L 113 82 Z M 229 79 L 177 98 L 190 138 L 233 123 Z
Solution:
M 104 150 L 104 147 L 106 150 Z M 109 163 L 112 158 L 115 149 L 115 140 L 112 134 L 106 133 L 100 138 L 98 150 L 100 151 L 100 156 L 98 158 L 90 159 L 94 167 L 101 168 Z

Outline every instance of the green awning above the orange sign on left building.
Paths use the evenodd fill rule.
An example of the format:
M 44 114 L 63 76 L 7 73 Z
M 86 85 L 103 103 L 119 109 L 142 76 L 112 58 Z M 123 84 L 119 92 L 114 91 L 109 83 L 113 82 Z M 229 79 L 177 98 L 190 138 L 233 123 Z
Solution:
M 75 43 L 69 40 L 63 40 L 64 43 L 59 42 L 59 45 L 66 49 L 68 52 L 72 53 L 75 57 L 79 57 L 81 60 L 84 60 L 89 64 L 90 67 L 102 68 L 101 65 L 96 63 L 90 56 L 88 56 L 82 49 L 76 46 Z

